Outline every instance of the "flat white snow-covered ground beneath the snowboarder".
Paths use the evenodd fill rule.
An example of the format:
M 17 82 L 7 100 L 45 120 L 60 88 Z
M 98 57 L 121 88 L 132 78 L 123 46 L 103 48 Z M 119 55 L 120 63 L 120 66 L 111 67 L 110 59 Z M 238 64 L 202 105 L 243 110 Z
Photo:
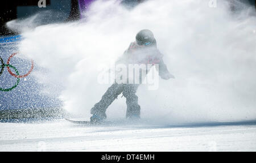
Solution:
M 0 123 L 0 151 L 256 151 L 256 125 Z

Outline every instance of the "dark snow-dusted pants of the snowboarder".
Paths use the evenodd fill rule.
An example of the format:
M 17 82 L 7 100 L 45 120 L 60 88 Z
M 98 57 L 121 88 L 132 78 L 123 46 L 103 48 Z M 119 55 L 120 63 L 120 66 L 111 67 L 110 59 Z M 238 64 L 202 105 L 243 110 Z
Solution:
M 101 100 L 90 110 L 91 114 L 97 114 L 106 118 L 106 109 L 112 102 L 123 92 L 126 97 L 126 118 L 139 117 L 141 114 L 141 106 L 138 105 L 138 96 L 135 95 L 139 84 L 112 84 Z

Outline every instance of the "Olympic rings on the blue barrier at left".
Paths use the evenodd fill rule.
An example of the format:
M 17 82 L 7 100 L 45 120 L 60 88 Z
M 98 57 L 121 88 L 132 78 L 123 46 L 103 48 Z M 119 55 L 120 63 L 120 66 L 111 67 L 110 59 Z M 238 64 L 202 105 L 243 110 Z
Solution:
M 24 77 L 26 77 L 27 75 L 29 75 L 29 74 L 32 72 L 33 68 L 34 68 L 34 61 L 31 59 L 32 65 L 31 65 L 30 70 L 27 72 L 27 74 L 19 75 L 19 71 L 17 70 L 17 68 L 14 67 L 13 65 L 10 65 L 10 60 L 11 60 L 11 58 L 13 58 L 14 55 L 16 55 L 16 54 L 17 54 L 17 53 L 11 54 L 11 56 L 8 58 L 6 64 L 3 63 L 3 59 L 0 57 L 0 62 L 1 62 L 0 76 L 3 74 L 3 70 L 5 69 L 5 67 L 7 67 L 7 70 L 8 70 L 8 72 L 9 72 L 9 74 L 10 74 L 11 76 L 14 76 L 15 78 L 17 78 L 16 83 L 15 83 L 15 85 L 14 85 L 13 87 L 11 87 L 11 88 L 6 88 L 6 89 L 5 89 L 5 88 L 0 88 L 0 91 L 8 92 L 8 91 L 11 91 L 11 90 L 13 90 L 14 88 L 16 88 L 17 85 L 19 84 L 19 79 L 20 79 L 20 78 L 24 78 Z M 10 68 L 13 68 L 13 70 L 16 72 L 16 74 L 14 74 L 14 73 L 11 71 Z

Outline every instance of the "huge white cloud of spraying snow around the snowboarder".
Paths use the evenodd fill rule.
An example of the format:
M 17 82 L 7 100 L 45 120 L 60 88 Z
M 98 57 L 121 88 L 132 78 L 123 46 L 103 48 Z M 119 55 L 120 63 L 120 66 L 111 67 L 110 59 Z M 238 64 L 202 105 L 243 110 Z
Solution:
M 254 8 L 232 2 L 236 3 L 218 1 L 210 7 L 203 0 L 160 0 L 127 10 L 117 1 L 97 1 L 79 22 L 27 29 L 19 51 L 47 70 L 34 73 L 47 85 L 42 92 L 59 96 L 65 110 L 89 119 L 90 109 L 112 84 L 99 84 L 98 74 L 113 65 L 138 31 L 150 29 L 175 79 L 160 79 L 154 91 L 146 85 L 138 88 L 143 119 L 255 119 Z M 232 11 L 231 6 L 239 9 Z M 123 118 L 125 111 L 125 99 L 119 96 L 107 115 Z

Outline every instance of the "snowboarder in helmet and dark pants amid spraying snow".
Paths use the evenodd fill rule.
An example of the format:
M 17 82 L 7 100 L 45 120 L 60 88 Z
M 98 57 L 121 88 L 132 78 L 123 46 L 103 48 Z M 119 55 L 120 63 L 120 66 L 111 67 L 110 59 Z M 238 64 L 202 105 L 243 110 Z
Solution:
M 153 33 L 148 29 L 139 31 L 136 35 L 136 41 L 131 42 L 129 48 L 123 53 L 122 57 L 118 59 L 117 63 L 123 64 L 158 64 L 159 76 L 162 79 L 174 78 L 168 70 L 162 59 L 163 55 L 156 47 L 156 40 Z M 148 70 L 147 70 L 148 72 Z M 141 106 L 138 105 L 138 96 L 135 95 L 139 84 L 112 84 L 101 100 L 97 102 L 90 110 L 93 114 L 90 117 L 91 122 L 102 122 L 106 119 L 106 109 L 123 93 L 126 97 L 127 111 L 126 118 L 139 119 L 141 114 Z

